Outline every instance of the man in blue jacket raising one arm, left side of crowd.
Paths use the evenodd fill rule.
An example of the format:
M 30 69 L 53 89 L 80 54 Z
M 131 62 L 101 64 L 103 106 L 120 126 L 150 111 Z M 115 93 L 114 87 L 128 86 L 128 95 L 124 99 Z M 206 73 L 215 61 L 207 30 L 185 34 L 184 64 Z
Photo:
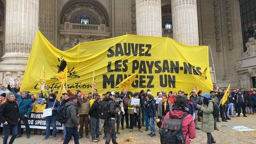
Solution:
M 18 108 L 19 108 L 19 114 L 20 114 L 20 121 L 18 123 L 18 135 L 17 137 L 21 137 L 21 120 L 25 124 L 25 129 L 27 133 L 27 139 L 30 138 L 30 126 L 28 125 L 28 116 L 31 114 L 31 111 L 33 109 L 33 103 L 30 98 L 30 95 L 27 94 L 26 91 L 21 92 L 21 95 L 17 94 L 17 86 L 15 88 L 11 88 L 8 85 L 9 91 L 14 93 L 15 98 L 18 100 Z

